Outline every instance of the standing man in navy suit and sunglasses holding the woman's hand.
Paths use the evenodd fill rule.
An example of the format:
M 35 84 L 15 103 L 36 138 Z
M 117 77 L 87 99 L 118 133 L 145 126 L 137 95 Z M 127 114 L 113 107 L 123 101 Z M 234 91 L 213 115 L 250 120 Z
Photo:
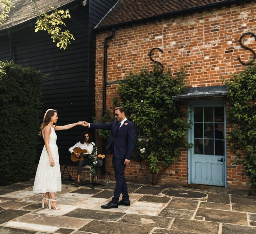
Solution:
M 132 122 L 126 119 L 125 113 L 126 109 L 119 106 L 115 108 L 117 120 L 112 123 L 84 122 L 85 127 L 111 130 L 107 154 L 113 154 L 112 165 L 115 173 L 116 188 L 112 201 L 102 205 L 101 208 L 103 209 L 118 208 L 118 205 L 130 206 L 124 170 L 126 164 L 129 164 L 131 160 L 135 142 L 135 127 Z M 123 194 L 123 199 L 118 202 L 121 193 Z

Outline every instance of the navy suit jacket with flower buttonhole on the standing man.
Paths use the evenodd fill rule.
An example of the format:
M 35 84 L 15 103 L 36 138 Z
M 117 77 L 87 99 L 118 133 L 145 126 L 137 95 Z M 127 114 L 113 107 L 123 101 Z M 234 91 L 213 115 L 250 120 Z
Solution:
M 124 121 L 118 128 L 118 121 L 112 123 L 90 123 L 90 128 L 111 130 L 107 154 L 114 153 L 118 159 L 131 160 L 132 151 L 135 145 L 135 127 L 129 120 Z

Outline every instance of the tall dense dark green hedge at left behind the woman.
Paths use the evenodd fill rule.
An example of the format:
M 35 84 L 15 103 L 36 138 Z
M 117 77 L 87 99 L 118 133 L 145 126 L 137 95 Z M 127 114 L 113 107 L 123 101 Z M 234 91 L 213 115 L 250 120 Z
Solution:
M 40 87 L 46 76 L 13 62 L 0 62 L 0 185 L 34 175 Z

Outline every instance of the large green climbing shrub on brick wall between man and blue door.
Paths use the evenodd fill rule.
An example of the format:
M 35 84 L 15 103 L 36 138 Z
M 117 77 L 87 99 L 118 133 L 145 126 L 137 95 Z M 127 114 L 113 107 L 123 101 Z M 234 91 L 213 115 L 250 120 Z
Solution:
M 139 74 L 130 73 L 119 85 L 122 102 L 118 105 L 126 107 L 136 131 L 146 136 L 136 140 L 133 158 L 145 160 L 153 174 L 176 161 L 181 148 L 190 147 L 185 140 L 190 124 L 184 121 L 185 113 L 179 104 L 172 100 L 172 96 L 182 93 L 185 72 L 172 76 L 160 71 L 157 66 L 153 72 L 144 68 Z

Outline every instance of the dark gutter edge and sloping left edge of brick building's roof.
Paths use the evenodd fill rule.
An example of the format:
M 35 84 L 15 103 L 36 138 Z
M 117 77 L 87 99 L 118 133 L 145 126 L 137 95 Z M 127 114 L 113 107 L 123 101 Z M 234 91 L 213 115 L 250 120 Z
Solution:
M 227 0 L 227 1 L 224 1 L 224 2 L 216 2 L 216 3 L 213 3 L 213 4 L 208 4 L 208 5 L 203 5 L 203 6 L 199 6 L 199 7 L 193 7 L 193 8 L 184 9 L 184 10 L 181 10 L 181 11 L 175 11 L 175 12 L 171 12 L 171 13 L 164 13 L 164 14 L 160 14 L 160 15 L 155 15 L 155 16 L 147 17 L 147 18 L 127 21 L 127 22 L 123 22 L 123 23 L 120 23 L 120 24 L 107 25 L 107 26 L 96 28 L 99 25 L 99 23 L 98 23 L 97 26 L 94 27 L 94 31 L 98 32 L 98 31 L 105 30 L 105 29 L 117 28 L 117 27 L 120 27 L 120 26 L 131 25 L 131 24 L 135 24 L 135 23 L 141 23 L 141 22 L 145 22 L 145 21 L 149 21 L 149 20 L 157 20 L 157 19 L 160 19 L 160 18 L 163 18 L 163 17 L 167 17 L 167 16 L 179 15 L 181 13 L 190 13 L 190 12 L 193 12 L 193 11 L 197 11 L 197 10 L 201 10 L 201 9 L 205 9 L 205 8 L 209 8 L 209 7 L 218 7 L 218 6 L 223 6 L 223 5 L 237 3 L 237 2 L 242 2 L 242 1 L 241 0 Z M 113 9 L 113 7 L 112 7 L 112 9 Z M 106 15 L 104 16 L 104 18 L 106 17 Z

